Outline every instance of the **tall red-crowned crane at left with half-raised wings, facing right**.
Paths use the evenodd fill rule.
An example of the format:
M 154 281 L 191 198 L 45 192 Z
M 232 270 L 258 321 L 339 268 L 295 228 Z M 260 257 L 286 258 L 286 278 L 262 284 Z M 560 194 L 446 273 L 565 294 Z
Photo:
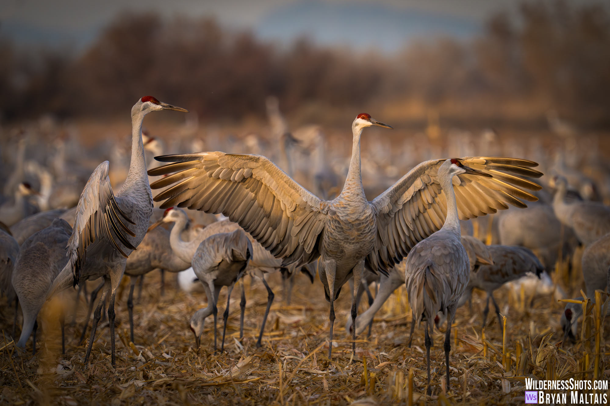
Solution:
M 148 229 L 152 214 L 152 194 L 146 175 L 142 121 L 156 110 L 188 112 L 182 107 L 144 96 L 131 109 L 132 148 L 129 174 L 115 196 L 108 176 L 108 161 L 93 171 L 77 205 L 74 228 L 68 243 L 70 260 L 49 289 L 47 298 L 85 280 L 104 278 L 104 292 L 93 317 L 93 329 L 87 346 L 85 363 L 89 359 L 101 310 L 110 293 L 108 319 L 112 365 L 115 360 L 115 311 L 117 288 L 123 277 L 127 257 L 140 244 Z M 127 223 L 128 225 L 126 225 Z

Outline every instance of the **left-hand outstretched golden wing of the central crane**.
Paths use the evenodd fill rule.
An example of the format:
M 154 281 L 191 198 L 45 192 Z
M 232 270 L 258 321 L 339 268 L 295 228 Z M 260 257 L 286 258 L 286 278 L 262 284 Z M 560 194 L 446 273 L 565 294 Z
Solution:
M 161 208 L 188 207 L 223 213 L 259 241 L 283 265 L 298 266 L 320 255 L 318 241 L 326 224 L 326 201 L 301 187 L 260 155 L 199 152 L 156 157 L 168 165 L 150 176 L 168 174 L 151 184 L 168 187 L 154 198 Z

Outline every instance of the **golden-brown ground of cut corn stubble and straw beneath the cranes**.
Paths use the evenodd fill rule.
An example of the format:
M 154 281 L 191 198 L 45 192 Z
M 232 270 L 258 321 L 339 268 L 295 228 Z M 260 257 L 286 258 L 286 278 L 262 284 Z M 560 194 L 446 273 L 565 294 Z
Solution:
M 562 338 L 558 330 L 561 331 L 559 315 L 563 305 L 552 297 L 534 297 L 530 307 L 530 297 L 520 301 L 512 299 L 508 290 L 496 292 L 501 310 L 507 312 L 506 352 L 511 354 L 511 361 L 504 361 L 511 364 L 506 367 L 507 372 L 503 368 L 503 341 L 493 310 L 486 332 L 490 344 L 484 348 L 480 335 L 484 296 L 475 294 L 475 314 L 468 315 L 467 306 L 462 307 L 453 327 L 448 394 L 442 390 L 443 335 L 434 333 L 432 396 L 426 399 L 423 396 L 426 392 L 423 329 L 415 330 L 414 345 L 407 348 L 410 324 L 404 316 L 404 287 L 378 312 L 370 340 L 360 337 L 362 340 L 357 341 L 357 361 L 350 364 L 351 343 L 343 328 L 350 307 L 347 286 L 337 302 L 337 346 L 329 363 L 326 357 L 329 306 L 317 278 L 310 285 L 304 276 L 298 276 L 289 306 L 282 300 L 279 275 L 271 276 L 276 300 L 265 329 L 264 346 L 256 349 L 254 344 L 267 294 L 261 283 L 254 281 L 251 287 L 251 279 L 246 277 L 248 304 L 243 347 L 237 341 L 240 297 L 236 288 L 225 352 L 218 355 L 212 351 L 211 316 L 206 320 L 199 351 L 193 348 L 195 342 L 188 329 L 190 316 L 204 307 L 205 295 L 185 294 L 176 288 L 171 274 L 166 279 L 165 296 L 159 297 L 159 272 L 146 276 L 142 298 L 134 308 L 135 346 L 128 343 L 127 290 L 121 292 L 122 297 L 118 296 L 116 369 L 110 365 L 107 321 L 98 327 L 90 366 L 83 364 L 85 347 L 77 346 L 80 327 L 66 328 L 66 354 L 60 354 L 59 326 L 52 302 L 39 318 L 44 320 L 35 357 L 30 352 L 31 340 L 26 355 L 13 357 L 15 347 L 10 340 L 13 311 L 1 299 L 4 310 L 0 314 L 0 329 L 4 338 L 0 337 L 0 404 L 341 405 L 367 397 L 379 404 L 407 404 L 410 370 L 414 373 L 415 404 L 426 401 L 431 404 L 523 404 L 523 376 L 533 374 L 541 379 L 592 379 L 593 376 L 594 347 L 590 349 L 579 343 L 558 349 L 553 345 Z M 225 303 L 226 296 L 221 295 L 219 338 Z M 364 308 L 361 305 L 361 310 Z M 85 311 L 85 302 L 81 300 L 79 326 Z M 553 332 L 547 344 L 543 337 Z M 523 346 L 519 363 L 515 340 L 520 340 Z M 603 379 L 608 379 L 610 347 L 605 341 L 601 341 L 599 371 Z M 583 360 L 586 351 L 588 363 Z M 366 379 L 363 360 L 367 365 Z

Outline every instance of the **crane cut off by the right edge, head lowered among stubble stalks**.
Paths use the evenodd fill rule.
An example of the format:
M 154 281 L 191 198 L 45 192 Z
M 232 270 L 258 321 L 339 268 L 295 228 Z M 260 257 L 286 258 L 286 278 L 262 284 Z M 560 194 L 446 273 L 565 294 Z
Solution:
M 585 293 L 590 299 L 595 300 L 595 290 L 610 290 L 610 234 L 587 246 L 583 252 L 582 265 Z M 576 325 L 582 315 L 583 308 L 580 304 L 566 304 L 561 316 L 564 341 L 567 337 L 575 340 Z

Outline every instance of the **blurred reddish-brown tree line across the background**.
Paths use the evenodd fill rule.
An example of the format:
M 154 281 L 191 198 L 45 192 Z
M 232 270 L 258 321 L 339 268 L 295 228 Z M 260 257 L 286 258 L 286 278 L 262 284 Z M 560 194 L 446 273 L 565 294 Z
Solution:
M 487 116 L 556 109 L 610 126 L 610 15 L 602 5 L 523 2 L 467 43 L 418 41 L 373 58 L 304 39 L 278 48 L 213 20 L 126 14 L 77 56 L 0 42 L 0 90 L 5 120 L 124 115 L 144 94 L 236 119 L 264 115 L 274 94 L 285 112 L 411 102 L 458 115 L 464 106 Z

